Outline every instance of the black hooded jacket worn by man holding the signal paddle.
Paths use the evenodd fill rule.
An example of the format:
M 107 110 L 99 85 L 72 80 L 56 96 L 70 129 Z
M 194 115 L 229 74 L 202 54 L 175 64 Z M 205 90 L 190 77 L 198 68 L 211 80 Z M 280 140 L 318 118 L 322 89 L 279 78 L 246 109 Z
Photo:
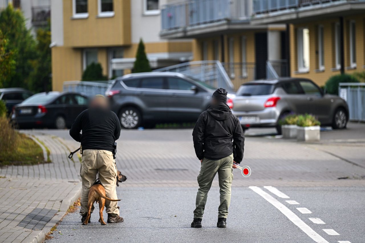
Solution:
M 193 142 L 198 159 L 219 160 L 232 153 L 235 162 L 241 163 L 243 159 L 245 137 L 241 123 L 227 104 L 209 107 L 200 114 L 193 130 Z

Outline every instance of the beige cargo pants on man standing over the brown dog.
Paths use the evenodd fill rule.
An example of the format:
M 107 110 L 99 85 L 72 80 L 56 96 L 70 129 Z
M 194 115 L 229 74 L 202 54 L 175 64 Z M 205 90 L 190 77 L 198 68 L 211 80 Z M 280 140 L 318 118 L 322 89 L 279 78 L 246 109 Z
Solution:
M 99 179 L 105 188 L 106 196 L 111 199 L 118 199 L 115 190 L 118 172 L 116 170 L 115 160 L 113 159 L 113 153 L 110 151 L 84 150 L 82 151 L 81 158 L 80 176 L 82 179 L 82 194 L 80 214 L 84 216 L 88 213 L 89 189 L 96 180 L 97 172 L 99 171 Z M 105 211 L 107 214 L 119 216 L 119 209 L 117 207 L 118 202 L 105 200 Z

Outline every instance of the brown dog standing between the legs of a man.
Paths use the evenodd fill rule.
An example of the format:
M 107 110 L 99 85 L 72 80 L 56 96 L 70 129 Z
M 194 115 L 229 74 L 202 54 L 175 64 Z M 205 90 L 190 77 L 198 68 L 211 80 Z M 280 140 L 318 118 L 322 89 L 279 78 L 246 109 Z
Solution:
M 123 175 L 120 171 L 118 171 L 117 183 L 125 182 L 126 180 L 127 180 L 127 176 Z M 103 219 L 105 200 L 109 200 L 112 202 L 120 201 L 120 199 L 111 199 L 111 198 L 106 197 L 105 189 L 101 184 L 94 184 L 92 187 L 90 187 L 89 196 L 88 196 L 88 214 L 87 214 L 87 217 L 86 217 L 84 223 L 82 223 L 82 224 L 84 224 L 84 225 L 88 224 L 88 221 L 89 221 L 89 218 L 91 215 L 91 208 L 93 207 L 94 202 L 96 202 L 96 203 L 99 202 L 99 215 L 100 215 L 99 222 L 103 225 L 106 224 Z

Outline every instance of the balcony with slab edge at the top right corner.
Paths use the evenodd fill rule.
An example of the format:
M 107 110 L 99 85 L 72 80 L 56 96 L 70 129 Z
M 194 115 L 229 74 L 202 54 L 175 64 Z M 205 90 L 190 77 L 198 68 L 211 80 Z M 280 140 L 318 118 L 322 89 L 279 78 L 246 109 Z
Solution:
M 364 11 L 365 0 L 253 0 L 252 23 L 300 23 Z

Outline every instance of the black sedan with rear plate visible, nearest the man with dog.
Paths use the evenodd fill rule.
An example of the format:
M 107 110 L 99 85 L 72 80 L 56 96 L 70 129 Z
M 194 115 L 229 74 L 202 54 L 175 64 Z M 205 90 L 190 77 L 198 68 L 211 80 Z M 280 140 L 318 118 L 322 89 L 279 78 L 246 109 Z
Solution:
M 80 93 L 37 93 L 14 106 L 12 120 L 20 128 L 69 128 L 87 107 L 88 97 Z

